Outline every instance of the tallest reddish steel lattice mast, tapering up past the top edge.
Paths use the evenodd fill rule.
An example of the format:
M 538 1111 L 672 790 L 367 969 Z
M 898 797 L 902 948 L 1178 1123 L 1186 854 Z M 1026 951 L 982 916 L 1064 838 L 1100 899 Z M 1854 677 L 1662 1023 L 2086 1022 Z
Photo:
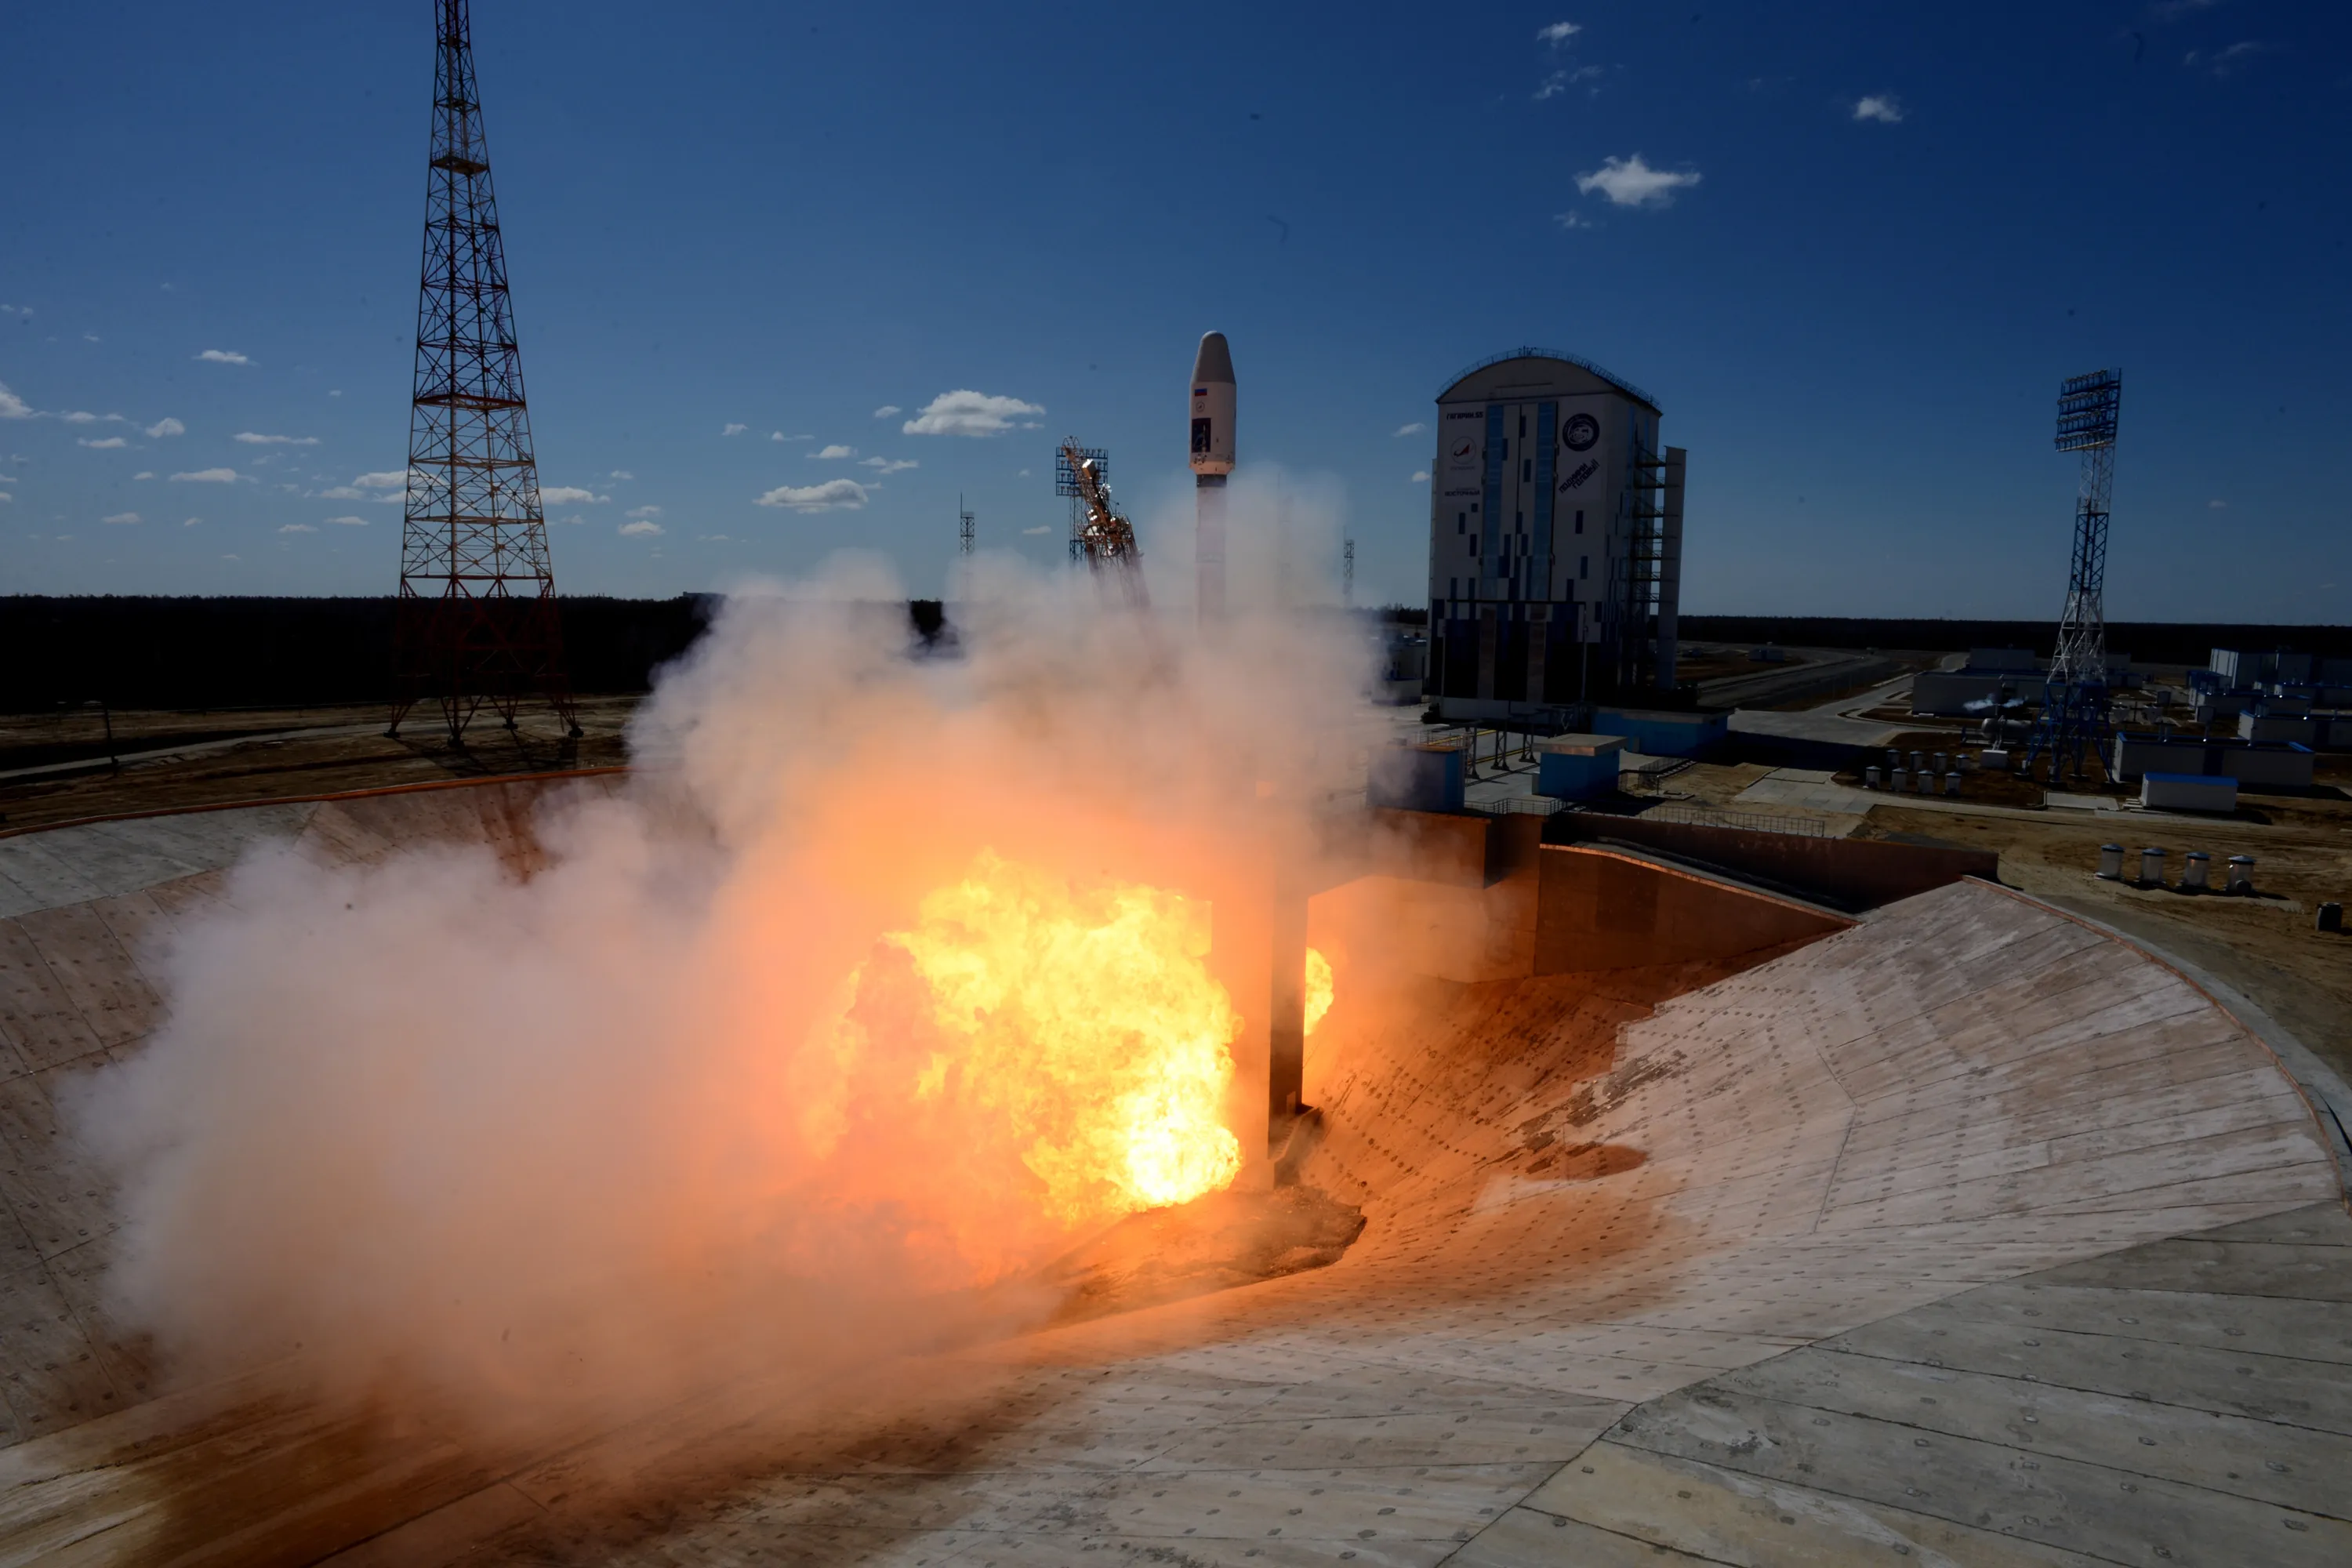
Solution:
M 485 703 L 513 729 L 539 696 L 579 736 L 466 0 L 437 0 L 435 19 L 390 731 L 440 703 L 456 743 Z

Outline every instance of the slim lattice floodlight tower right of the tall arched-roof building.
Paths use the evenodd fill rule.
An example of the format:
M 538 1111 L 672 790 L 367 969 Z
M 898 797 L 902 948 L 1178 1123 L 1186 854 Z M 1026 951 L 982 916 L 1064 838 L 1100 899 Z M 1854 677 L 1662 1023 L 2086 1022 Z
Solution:
M 2058 649 L 2042 684 L 2042 717 L 2025 743 L 2025 769 L 2049 752 L 2049 780 L 2084 771 L 2107 731 L 2107 501 L 2114 491 L 2114 430 L 2124 371 L 2098 369 L 2058 383 L 2058 451 L 2082 454 L 2074 491 L 2074 562 L 2067 571 Z

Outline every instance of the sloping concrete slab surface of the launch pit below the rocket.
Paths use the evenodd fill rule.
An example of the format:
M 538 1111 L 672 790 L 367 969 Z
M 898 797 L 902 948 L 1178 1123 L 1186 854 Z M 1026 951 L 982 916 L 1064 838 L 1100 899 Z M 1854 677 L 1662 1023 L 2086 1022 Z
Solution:
M 2288 1483 L 2352 1446 L 2310 1110 L 2180 976 L 1985 884 L 1764 961 L 1343 997 L 1298 1164 L 1364 1208 L 1336 1265 L 898 1368 L 748 1458 L 722 1394 L 529 1455 L 151 1401 L 99 1305 L 108 1197 L 47 1112 L 153 1027 L 143 931 L 202 917 L 233 839 L 527 865 L 527 804 L 151 818 L 96 870 L 64 837 L 96 830 L 0 839 L 56 896 L 0 919 L 0 1561 L 2352 1559 L 2340 1486 Z M 2183 1305 L 2237 1269 L 2260 1300 Z M 2260 1458 L 2183 1448 L 2220 1420 Z

